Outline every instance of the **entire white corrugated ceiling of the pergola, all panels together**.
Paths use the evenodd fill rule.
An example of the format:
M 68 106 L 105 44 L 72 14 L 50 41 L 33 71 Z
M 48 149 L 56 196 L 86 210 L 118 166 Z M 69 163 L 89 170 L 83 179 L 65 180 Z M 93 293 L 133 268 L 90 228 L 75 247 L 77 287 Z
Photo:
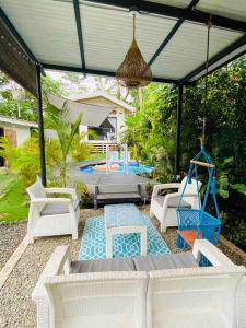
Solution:
M 187 8 L 191 0 L 153 0 L 152 2 L 156 5 L 177 7 L 179 8 L 178 14 L 180 14 L 180 9 Z M 120 3 L 121 7 L 125 5 L 124 1 Z M 72 0 L 0 0 L 0 4 L 42 63 L 82 70 Z M 121 7 L 107 5 L 104 1 L 80 0 L 85 69 L 91 70 L 90 72 L 114 74 L 129 49 L 132 39 L 132 17 L 128 9 Z M 196 9 L 244 20 L 246 0 L 200 0 Z M 178 19 L 141 12 L 137 19 L 137 40 L 147 62 L 177 22 Z M 224 27 L 212 27 L 210 58 L 220 54 L 243 35 L 243 33 Z M 238 51 L 230 48 L 232 54 L 223 52 L 218 57 L 218 63 L 213 63 L 210 69 L 223 63 L 223 60 L 233 58 L 234 54 L 242 54 L 244 45 L 245 38 L 242 38 Z M 162 81 L 166 79 L 176 81 L 185 78 L 204 62 L 206 47 L 206 25 L 185 21 L 156 56 L 151 66 L 153 77 Z M 196 77 L 200 77 L 202 72 L 203 68 L 196 72 Z M 190 79 L 194 80 L 194 74 L 191 75 Z

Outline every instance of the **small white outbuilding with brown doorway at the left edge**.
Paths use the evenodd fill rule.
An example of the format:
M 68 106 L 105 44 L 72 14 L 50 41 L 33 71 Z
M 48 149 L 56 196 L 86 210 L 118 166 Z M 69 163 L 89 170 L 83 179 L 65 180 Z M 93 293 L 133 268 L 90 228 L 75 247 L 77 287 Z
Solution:
M 17 147 L 28 139 L 33 128 L 37 128 L 36 122 L 0 115 L 0 137 L 8 138 L 13 145 Z M 2 157 L 0 157 L 0 166 L 4 166 Z

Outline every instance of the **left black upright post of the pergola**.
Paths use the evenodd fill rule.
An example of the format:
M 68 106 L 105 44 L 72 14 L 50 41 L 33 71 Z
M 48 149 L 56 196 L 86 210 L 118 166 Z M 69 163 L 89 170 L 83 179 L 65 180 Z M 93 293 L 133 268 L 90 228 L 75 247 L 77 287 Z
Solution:
M 39 136 L 39 151 L 40 151 L 40 174 L 42 183 L 46 186 L 46 166 L 45 166 L 45 134 L 44 134 L 44 119 L 43 119 L 43 101 L 42 101 L 42 83 L 40 83 L 40 65 L 36 63 L 36 83 L 37 83 L 37 121 Z

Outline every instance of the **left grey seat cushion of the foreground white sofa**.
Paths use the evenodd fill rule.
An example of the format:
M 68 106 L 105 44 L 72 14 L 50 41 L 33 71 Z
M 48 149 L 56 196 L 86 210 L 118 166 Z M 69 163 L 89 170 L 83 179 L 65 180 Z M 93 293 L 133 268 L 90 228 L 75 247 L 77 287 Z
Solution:
M 136 271 L 131 258 L 108 258 L 85 261 L 72 261 L 70 273 L 105 272 L 105 271 Z

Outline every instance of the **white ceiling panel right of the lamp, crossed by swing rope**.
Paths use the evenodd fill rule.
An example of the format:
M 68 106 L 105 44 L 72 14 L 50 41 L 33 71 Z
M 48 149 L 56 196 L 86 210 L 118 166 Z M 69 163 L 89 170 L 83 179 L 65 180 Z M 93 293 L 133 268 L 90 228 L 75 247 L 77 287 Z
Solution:
M 211 28 L 210 58 L 239 38 L 243 34 Z M 207 27 L 184 23 L 152 66 L 156 77 L 183 79 L 206 61 Z

